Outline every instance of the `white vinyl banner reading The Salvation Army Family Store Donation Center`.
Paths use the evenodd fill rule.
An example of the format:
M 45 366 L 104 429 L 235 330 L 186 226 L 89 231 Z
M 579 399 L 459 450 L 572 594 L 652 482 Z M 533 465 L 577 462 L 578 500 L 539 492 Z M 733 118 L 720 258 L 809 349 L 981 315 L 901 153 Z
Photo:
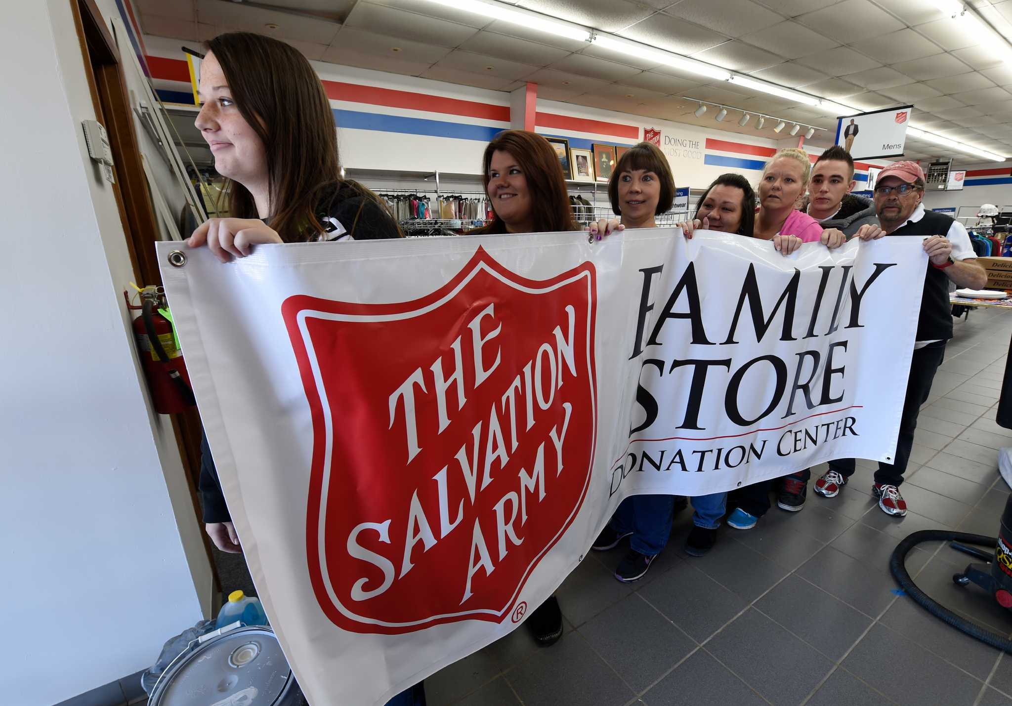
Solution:
M 892 460 L 927 267 L 916 238 L 785 257 L 675 229 L 158 253 L 314 706 L 384 704 L 513 630 L 625 497 Z

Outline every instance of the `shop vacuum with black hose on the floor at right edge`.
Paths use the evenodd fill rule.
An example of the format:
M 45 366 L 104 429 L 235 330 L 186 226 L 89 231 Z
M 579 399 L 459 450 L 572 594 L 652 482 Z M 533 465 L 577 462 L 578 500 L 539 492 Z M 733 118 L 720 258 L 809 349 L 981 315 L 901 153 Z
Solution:
M 1012 429 L 1012 357 L 1005 363 L 997 422 L 1006 429 Z M 944 530 L 922 530 L 914 532 L 900 542 L 893 550 L 889 562 L 893 578 L 915 603 L 960 632 L 1012 654 L 1012 640 L 1008 637 L 991 632 L 955 614 L 917 588 L 911 580 L 904 565 L 907 553 L 920 542 L 931 540 L 948 541 L 953 549 L 985 561 L 986 563 L 968 564 L 961 573 L 954 575 L 952 581 L 957 586 L 965 586 L 967 590 L 976 591 L 982 601 L 997 601 L 1000 606 L 1009 609 L 1009 618 L 1012 620 L 1012 496 L 1009 496 L 1009 500 L 1005 503 L 997 537 Z M 988 547 L 991 551 L 984 551 L 967 544 Z M 969 587 L 971 584 L 980 587 L 983 592 Z

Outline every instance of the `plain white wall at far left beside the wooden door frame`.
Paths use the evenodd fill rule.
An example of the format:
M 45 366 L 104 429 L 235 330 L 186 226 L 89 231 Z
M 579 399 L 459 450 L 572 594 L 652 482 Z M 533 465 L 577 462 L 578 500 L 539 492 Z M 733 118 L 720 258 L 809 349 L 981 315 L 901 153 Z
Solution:
M 25 706 L 144 669 L 201 617 L 169 494 L 178 453 L 128 335 L 118 211 L 86 158 L 80 120 L 94 115 L 70 8 L 11 3 L 0 25 L 16 67 L 2 93 L 18 106 L 0 111 L 0 693 Z

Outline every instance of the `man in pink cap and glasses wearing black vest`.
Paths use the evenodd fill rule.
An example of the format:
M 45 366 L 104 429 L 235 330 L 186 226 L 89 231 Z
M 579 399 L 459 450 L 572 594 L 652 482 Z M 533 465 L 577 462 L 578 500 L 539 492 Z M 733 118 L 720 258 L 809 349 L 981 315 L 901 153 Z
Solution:
M 926 211 L 921 203 L 923 197 L 924 172 L 916 162 L 891 164 L 879 173 L 875 182 L 875 212 L 883 232 L 881 235 L 921 238 L 924 252 L 928 254 L 896 462 L 878 463 L 871 489 L 882 512 L 898 517 L 907 514 L 907 502 L 900 495 L 900 484 L 914 445 L 917 415 L 928 399 L 931 381 L 945 356 L 945 343 L 952 338 L 949 280 L 956 286 L 973 289 L 980 289 L 988 281 L 984 268 L 974 262 L 977 255 L 966 229 L 943 213 Z M 853 469 L 853 464 L 849 464 L 847 472 L 847 464 L 840 464 L 837 469 L 830 470 L 816 481 L 816 493 L 825 498 L 835 497 L 847 484 Z

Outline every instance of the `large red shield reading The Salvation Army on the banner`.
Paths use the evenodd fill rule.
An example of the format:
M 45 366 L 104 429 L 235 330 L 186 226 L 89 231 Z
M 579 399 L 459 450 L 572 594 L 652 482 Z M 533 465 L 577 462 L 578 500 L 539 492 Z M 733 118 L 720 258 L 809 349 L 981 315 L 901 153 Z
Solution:
M 336 625 L 522 618 L 590 480 L 595 301 L 590 263 L 534 281 L 481 248 L 420 299 L 285 300 L 313 420 L 308 568 Z

